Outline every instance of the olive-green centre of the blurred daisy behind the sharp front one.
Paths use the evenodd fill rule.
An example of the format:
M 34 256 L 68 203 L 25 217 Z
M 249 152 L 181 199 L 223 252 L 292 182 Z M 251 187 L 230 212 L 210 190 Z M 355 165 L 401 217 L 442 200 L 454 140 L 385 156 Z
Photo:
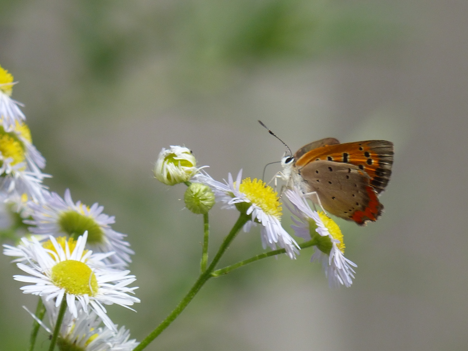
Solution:
M 73 210 L 62 212 L 59 216 L 58 224 L 62 233 L 68 234 L 73 239 L 78 239 L 80 235 L 88 231 L 88 244 L 96 245 L 104 242 L 105 234 L 101 226 L 94 218 L 88 217 Z

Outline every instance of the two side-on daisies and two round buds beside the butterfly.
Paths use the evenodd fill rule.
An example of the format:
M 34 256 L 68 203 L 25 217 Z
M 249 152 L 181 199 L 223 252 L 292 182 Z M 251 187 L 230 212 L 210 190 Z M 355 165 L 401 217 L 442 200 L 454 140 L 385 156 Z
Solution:
M 243 226 L 244 232 L 260 226 L 263 249 L 267 246 L 271 250 L 284 249 L 289 258 L 295 259 L 300 245 L 282 227 L 282 203 L 278 193 L 262 180 L 242 179 L 242 170 L 235 181 L 229 173 L 227 180 L 219 182 L 205 170 L 200 172 L 205 167 L 197 168 L 190 149 L 170 146 L 161 150 L 154 175 L 168 185 L 190 183 L 184 200 L 186 207 L 194 213 L 208 212 L 214 201 L 222 208 L 238 210 L 249 219 Z M 201 186 L 207 189 L 203 190 Z M 308 246 L 314 246 L 311 261 L 322 263 L 330 287 L 351 286 L 356 265 L 344 257 L 343 234 L 338 225 L 325 212 L 312 210 L 299 188 L 286 190 L 284 195 L 289 201 L 286 206 L 293 214 L 294 225 L 291 227 L 294 234 L 307 241 Z

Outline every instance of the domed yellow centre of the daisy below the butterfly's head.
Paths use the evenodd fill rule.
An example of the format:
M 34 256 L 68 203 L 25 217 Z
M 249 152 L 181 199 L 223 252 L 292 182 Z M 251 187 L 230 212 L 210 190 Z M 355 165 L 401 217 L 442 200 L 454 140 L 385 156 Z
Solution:
M 234 183 L 235 186 L 235 183 Z M 257 205 L 263 212 L 281 219 L 282 208 L 278 193 L 262 180 L 245 178 L 239 186 L 239 191 L 245 194 L 252 204 Z

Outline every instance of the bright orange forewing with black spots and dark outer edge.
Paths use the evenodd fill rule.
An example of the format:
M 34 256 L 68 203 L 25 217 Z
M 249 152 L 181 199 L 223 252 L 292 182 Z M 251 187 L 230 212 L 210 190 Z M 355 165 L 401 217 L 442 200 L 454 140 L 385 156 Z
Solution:
M 300 169 L 316 160 L 344 162 L 357 166 L 370 176 L 370 185 L 380 194 L 392 174 L 393 143 L 387 140 L 366 140 L 322 146 L 296 158 L 295 165 Z

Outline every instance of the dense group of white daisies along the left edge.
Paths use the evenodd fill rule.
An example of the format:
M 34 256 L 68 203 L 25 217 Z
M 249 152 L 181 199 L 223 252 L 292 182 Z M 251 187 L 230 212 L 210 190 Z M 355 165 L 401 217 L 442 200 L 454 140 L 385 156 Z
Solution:
M 31 315 L 60 351 L 133 350 L 138 343 L 106 309 L 133 310 L 140 302 L 126 234 L 112 229 L 115 218 L 98 203 L 73 202 L 70 190 L 62 198 L 42 184 L 50 176 L 41 171 L 45 159 L 32 144 L 22 104 L 11 98 L 14 84 L 0 67 L 0 239 L 15 242 L 3 245 L 22 271 L 13 278 L 25 283 L 23 293 L 38 296 L 48 326 L 44 315 Z

